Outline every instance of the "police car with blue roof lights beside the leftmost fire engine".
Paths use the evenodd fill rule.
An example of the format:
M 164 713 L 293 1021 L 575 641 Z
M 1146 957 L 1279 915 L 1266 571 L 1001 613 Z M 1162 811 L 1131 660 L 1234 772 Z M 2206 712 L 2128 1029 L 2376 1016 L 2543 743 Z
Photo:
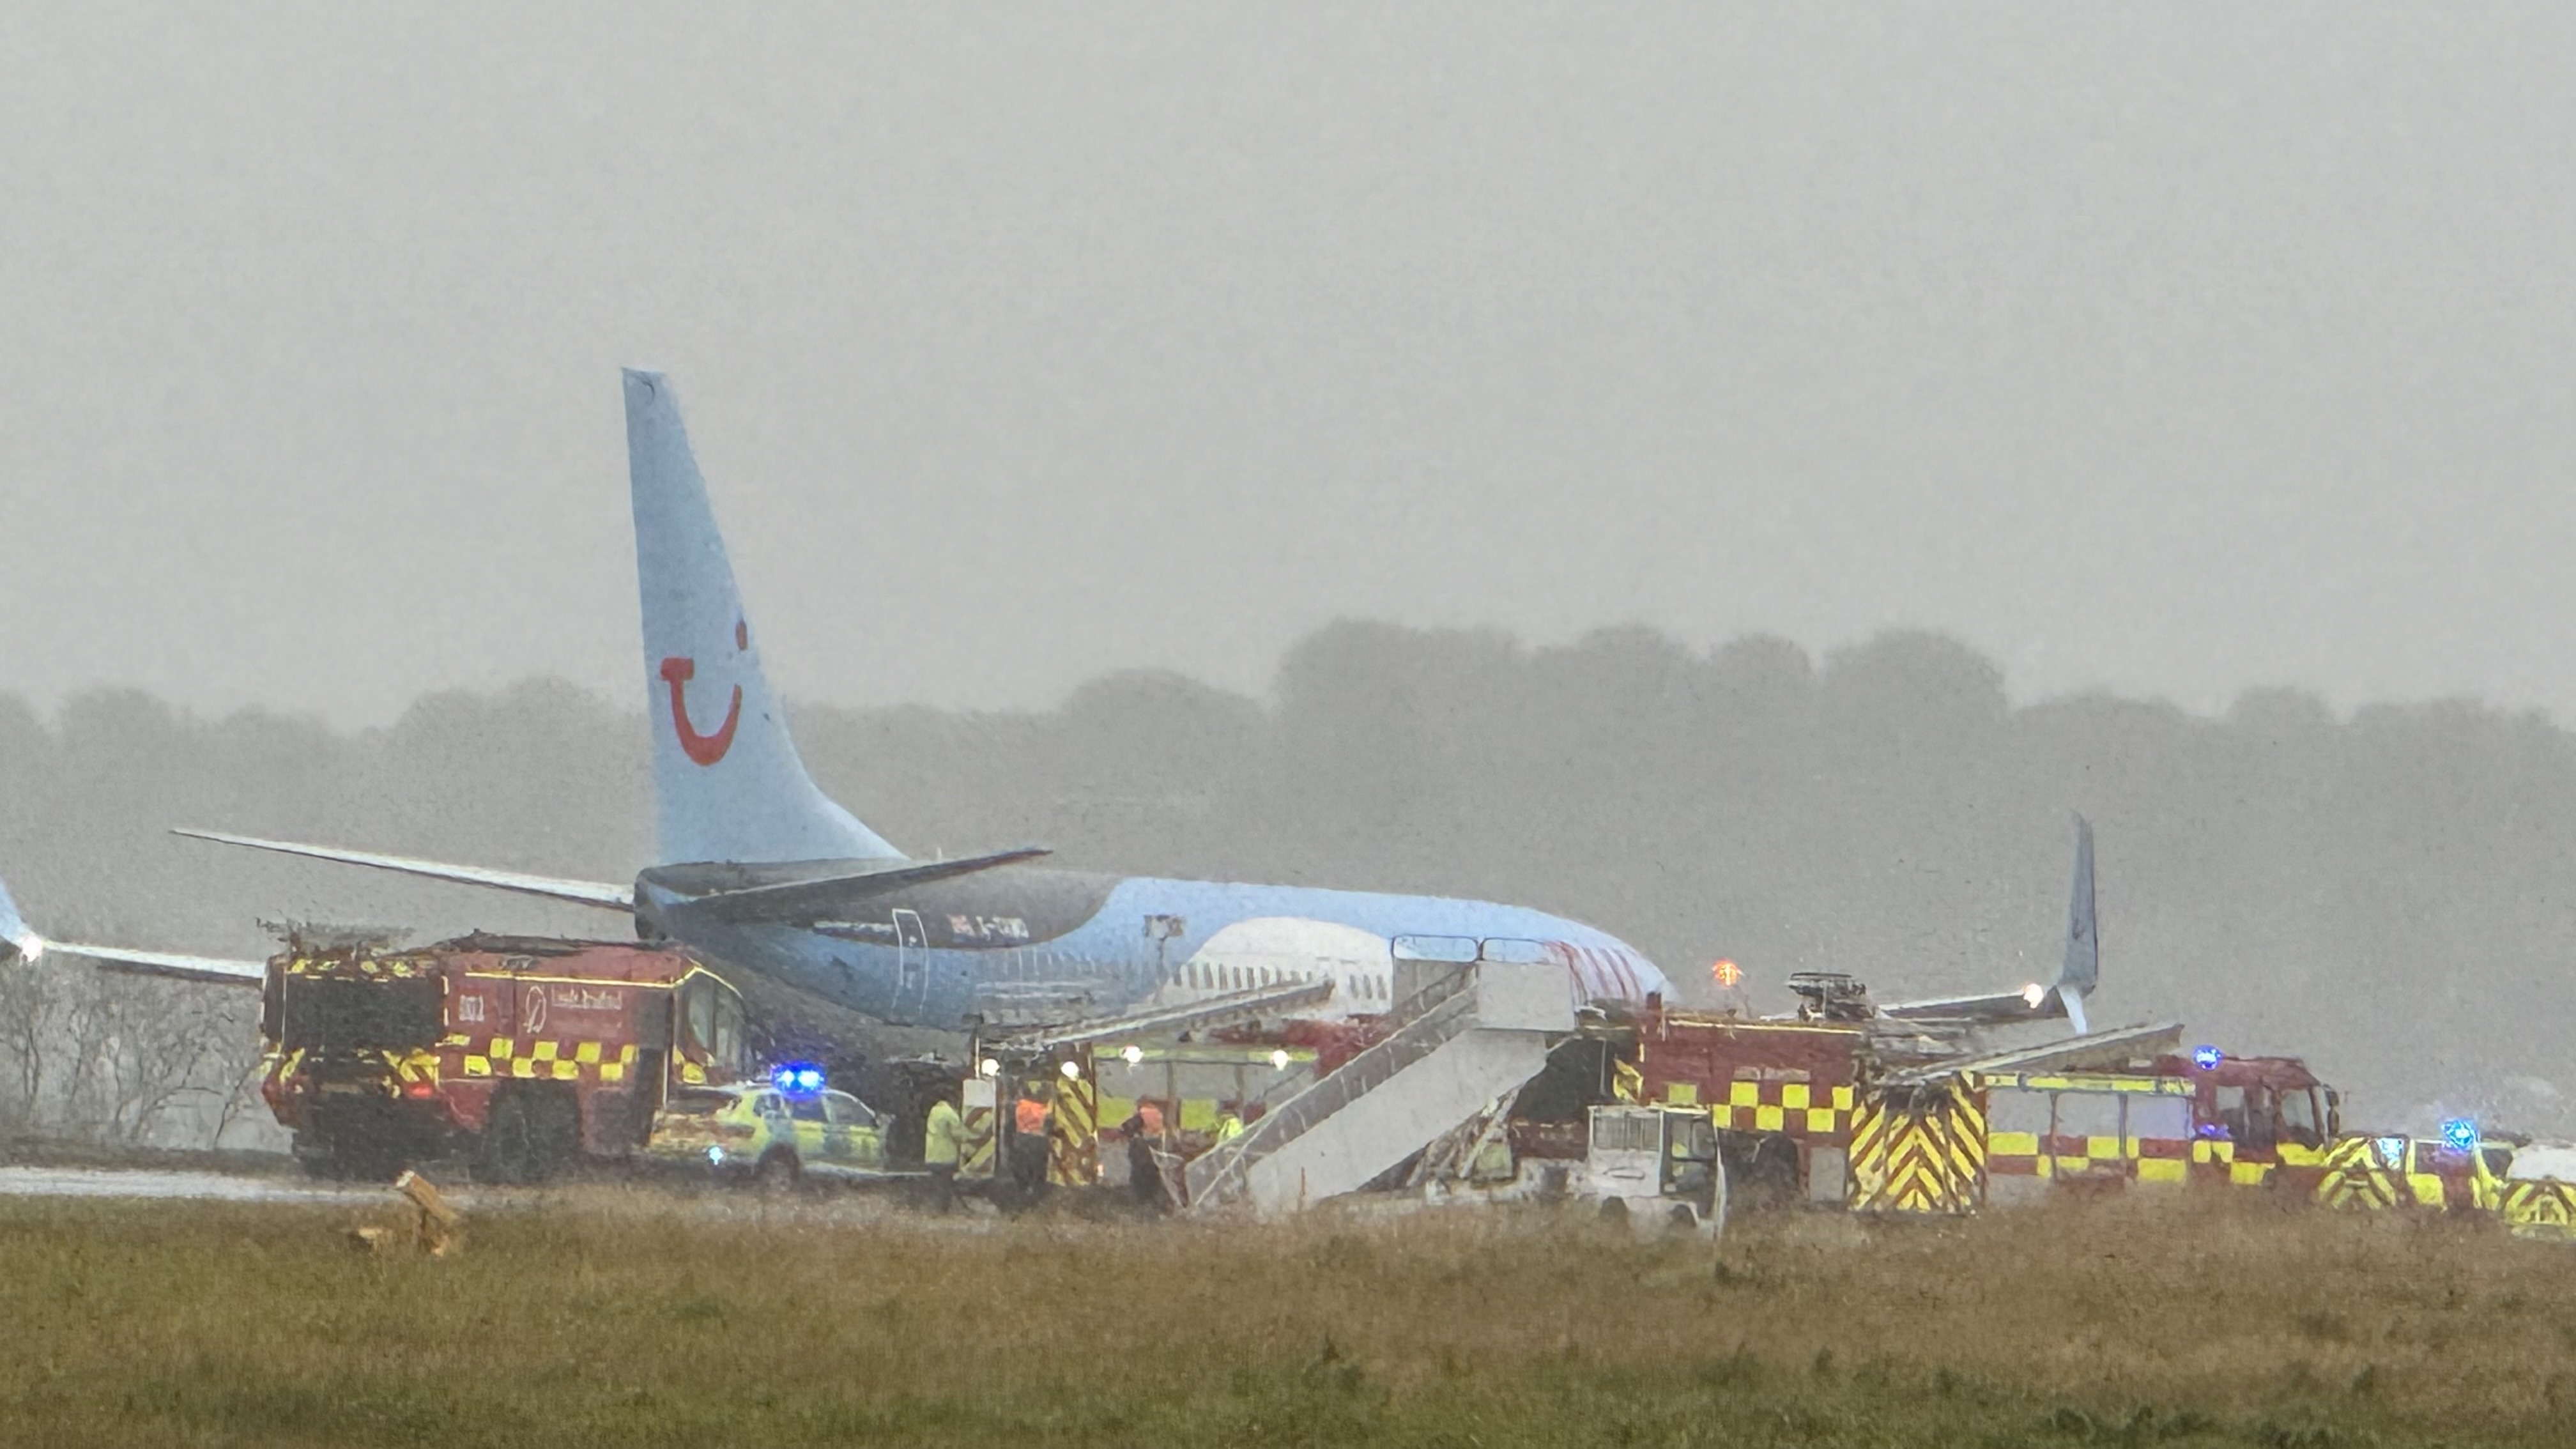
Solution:
M 886 1171 L 884 1116 L 801 1065 L 778 1067 L 765 1083 L 672 1093 L 654 1114 L 644 1155 L 765 1186 L 791 1186 L 804 1173 L 909 1176 Z

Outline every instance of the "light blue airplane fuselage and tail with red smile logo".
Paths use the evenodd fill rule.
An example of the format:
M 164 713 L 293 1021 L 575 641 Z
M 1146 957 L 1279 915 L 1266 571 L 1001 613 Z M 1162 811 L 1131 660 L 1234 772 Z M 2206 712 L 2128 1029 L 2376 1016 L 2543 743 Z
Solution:
M 889 1026 L 945 1031 L 1278 1006 L 1399 1006 L 1399 962 L 1556 962 L 1579 1008 L 1669 993 L 1579 920 L 1432 895 L 1069 871 L 1018 846 L 917 859 L 822 794 L 760 668 L 680 405 L 626 379 L 659 861 L 631 884 L 178 830 L 201 841 L 564 900 L 634 918 L 708 964 L 757 972 Z

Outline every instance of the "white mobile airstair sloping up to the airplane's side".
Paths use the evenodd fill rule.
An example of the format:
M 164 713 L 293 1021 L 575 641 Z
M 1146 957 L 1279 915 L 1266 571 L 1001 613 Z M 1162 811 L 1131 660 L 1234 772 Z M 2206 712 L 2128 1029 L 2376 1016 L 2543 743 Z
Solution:
M 1296 1212 L 1365 1186 L 1548 1065 L 1574 1031 L 1561 964 L 1473 962 L 1388 1013 L 1388 1036 L 1182 1171 L 1182 1204 Z

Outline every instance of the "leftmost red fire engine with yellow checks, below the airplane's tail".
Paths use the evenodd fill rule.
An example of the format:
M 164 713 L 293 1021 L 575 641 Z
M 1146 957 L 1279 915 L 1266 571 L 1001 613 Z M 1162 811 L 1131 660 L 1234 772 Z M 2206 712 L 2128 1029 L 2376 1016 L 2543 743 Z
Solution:
M 317 1176 L 464 1155 L 479 1181 L 544 1181 L 631 1155 L 672 1088 L 747 1070 L 742 995 L 685 954 L 618 941 L 289 938 L 260 1036 L 260 1096 Z

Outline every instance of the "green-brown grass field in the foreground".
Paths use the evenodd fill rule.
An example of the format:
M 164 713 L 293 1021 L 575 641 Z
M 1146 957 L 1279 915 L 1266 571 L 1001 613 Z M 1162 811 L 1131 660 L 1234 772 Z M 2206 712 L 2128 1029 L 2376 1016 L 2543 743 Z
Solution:
M 2576 1250 L 2138 1204 L 1280 1227 L 0 1204 L 10 1444 L 2576 1444 Z

